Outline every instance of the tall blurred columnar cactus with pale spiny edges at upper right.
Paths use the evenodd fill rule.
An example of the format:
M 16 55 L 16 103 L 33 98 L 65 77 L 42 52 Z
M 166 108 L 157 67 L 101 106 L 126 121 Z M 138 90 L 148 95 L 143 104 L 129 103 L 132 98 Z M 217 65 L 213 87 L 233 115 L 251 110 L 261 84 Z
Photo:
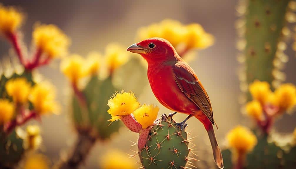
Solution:
M 237 8 L 241 18 L 237 21 L 239 41 L 237 43 L 239 62 L 244 63 L 239 78 L 241 89 L 246 92 L 247 85 L 258 79 L 276 87 L 284 80 L 280 71 L 287 62 L 284 54 L 284 36 L 289 35 L 285 27 L 290 0 L 261 1 L 242 0 Z M 250 95 L 247 97 L 250 100 Z

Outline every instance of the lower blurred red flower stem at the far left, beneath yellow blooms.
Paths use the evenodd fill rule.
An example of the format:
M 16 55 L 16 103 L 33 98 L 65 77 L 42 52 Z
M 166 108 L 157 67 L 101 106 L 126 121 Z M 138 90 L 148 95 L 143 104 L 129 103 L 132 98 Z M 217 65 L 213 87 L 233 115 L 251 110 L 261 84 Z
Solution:
M 8 135 L 13 129 L 15 129 L 16 126 L 21 126 L 22 124 L 25 124 L 27 121 L 29 121 L 32 118 L 36 118 L 37 113 L 35 111 L 29 111 L 25 112 L 25 110 L 21 110 L 21 113 L 17 115 L 17 117 L 9 121 L 4 125 L 4 131 Z

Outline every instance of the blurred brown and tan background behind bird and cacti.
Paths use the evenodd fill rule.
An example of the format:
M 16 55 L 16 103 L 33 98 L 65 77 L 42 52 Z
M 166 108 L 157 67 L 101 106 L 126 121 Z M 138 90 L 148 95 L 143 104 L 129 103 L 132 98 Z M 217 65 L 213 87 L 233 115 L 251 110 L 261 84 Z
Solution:
M 241 93 L 237 70 L 236 30 L 234 28 L 237 1 L 92 1 L 92 0 L 1 0 L 4 5 L 20 7 L 26 14 L 22 26 L 23 39 L 31 43 L 32 27 L 36 21 L 44 24 L 55 24 L 71 38 L 71 53 L 86 56 L 89 51 L 103 52 L 108 43 L 121 43 L 126 48 L 135 42 L 136 30 L 139 27 L 160 22 L 163 19 L 176 19 L 184 24 L 199 23 L 206 32 L 214 35 L 214 45 L 197 52 L 197 57 L 190 62 L 199 79 L 202 81 L 210 97 L 215 121 L 219 126 L 216 131 L 218 142 L 223 144 L 227 131 L 237 124 L 250 126 L 250 119 L 240 112 L 238 98 Z M 0 39 L 0 57 L 9 55 L 10 44 L 4 38 Z M 291 44 L 287 44 L 291 45 Z M 285 53 L 289 56 L 284 72 L 286 82 L 296 84 L 295 52 L 288 48 Z M 140 57 L 140 56 L 139 56 Z M 59 155 L 68 150 L 75 140 L 76 134 L 69 119 L 69 98 L 65 93 L 70 89 L 67 79 L 59 70 L 59 61 L 51 66 L 38 69 L 41 74 L 57 87 L 57 97 L 63 105 L 61 114 L 43 116 L 40 124 L 43 137 L 44 154 L 52 160 L 58 160 Z M 141 103 L 154 103 L 160 107 L 160 113 L 170 113 L 154 97 L 149 85 L 144 86 L 144 92 L 139 97 Z M 186 115 L 176 115 L 181 121 Z M 295 126 L 296 114 L 284 116 L 276 122 L 276 129 L 281 132 L 291 132 Z M 29 124 L 37 123 L 30 121 Z M 188 121 L 190 137 L 197 149 L 197 167 L 212 160 L 210 142 L 201 123 L 196 119 Z M 128 154 L 130 142 L 136 142 L 136 133 L 123 127 L 118 134 L 112 136 L 111 142 L 98 142 L 91 150 L 86 160 L 85 168 L 98 168 L 100 155 L 108 149 L 120 149 Z M 206 146 L 205 146 L 206 145 Z M 134 147 L 135 148 L 135 147 Z M 208 152 L 208 154 L 206 154 Z M 137 158 L 137 157 L 136 157 Z

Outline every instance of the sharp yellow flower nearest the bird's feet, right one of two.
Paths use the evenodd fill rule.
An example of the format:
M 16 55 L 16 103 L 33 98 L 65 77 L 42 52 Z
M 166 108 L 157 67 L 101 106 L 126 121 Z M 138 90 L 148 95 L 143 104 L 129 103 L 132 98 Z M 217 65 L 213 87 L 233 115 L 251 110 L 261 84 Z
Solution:
M 159 108 L 157 106 L 144 104 L 133 112 L 133 116 L 142 125 L 142 128 L 146 129 L 154 124 L 158 111 Z

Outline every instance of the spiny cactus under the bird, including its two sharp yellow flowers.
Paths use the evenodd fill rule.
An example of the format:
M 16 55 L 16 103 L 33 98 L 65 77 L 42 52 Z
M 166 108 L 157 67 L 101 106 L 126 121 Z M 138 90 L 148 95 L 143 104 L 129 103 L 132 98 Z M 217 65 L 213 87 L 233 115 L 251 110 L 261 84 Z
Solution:
M 185 168 L 188 160 L 195 160 L 189 157 L 186 124 L 177 124 L 173 115 L 164 114 L 156 120 L 158 108 L 146 104 L 139 107 L 133 93 L 116 93 L 108 105 L 110 121 L 120 119 L 139 133 L 138 154 L 143 168 Z

